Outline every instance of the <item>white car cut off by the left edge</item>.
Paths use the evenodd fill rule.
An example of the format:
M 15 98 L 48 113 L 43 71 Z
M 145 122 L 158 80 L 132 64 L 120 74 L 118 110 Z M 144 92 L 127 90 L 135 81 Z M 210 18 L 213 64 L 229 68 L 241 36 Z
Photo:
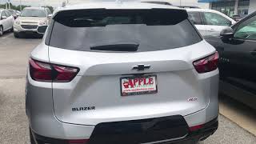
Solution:
M 14 17 L 7 10 L 0 9 L 0 36 L 5 31 L 12 30 L 14 23 Z

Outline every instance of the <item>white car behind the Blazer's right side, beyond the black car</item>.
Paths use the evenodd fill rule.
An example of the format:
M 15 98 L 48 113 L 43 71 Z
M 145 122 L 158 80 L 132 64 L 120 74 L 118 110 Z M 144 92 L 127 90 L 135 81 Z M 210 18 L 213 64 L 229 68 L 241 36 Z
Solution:
M 186 11 L 190 21 L 194 23 L 202 36 L 220 34 L 223 29 L 235 23 L 232 18 L 217 10 L 186 9 Z

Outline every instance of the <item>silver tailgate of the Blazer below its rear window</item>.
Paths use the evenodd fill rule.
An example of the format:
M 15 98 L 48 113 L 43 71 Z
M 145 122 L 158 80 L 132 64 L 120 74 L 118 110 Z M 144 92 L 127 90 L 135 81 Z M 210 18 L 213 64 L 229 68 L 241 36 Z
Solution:
M 122 121 L 127 118 L 148 118 L 149 115 L 150 117 L 174 114 L 185 116 L 202 110 L 208 105 L 207 91 L 210 86 L 206 84 L 208 81 L 205 79 L 202 79 L 202 82 L 197 80 L 198 74 L 193 70 L 192 62 L 200 55 L 203 58 L 214 53 L 214 49 L 209 46 L 207 50 L 203 47 L 205 45 L 206 42 L 202 41 L 193 46 L 186 46 L 184 50 L 178 48 L 136 54 L 61 50 L 62 58 L 58 57 L 60 51 L 58 48 L 49 47 L 51 63 L 60 65 L 65 63 L 80 68 L 78 77 L 72 82 L 53 83 L 55 115 L 62 122 L 96 125 L 99 122 Z M 142 72 L 131 70 L 139 63 L 149 64 L 152 69 Z M 119 79 L 139 73 L 158 76 L 158 86 L 160 86 L 158 94 L 121 97 Z M 170 81 L 165 80 L 166 78 Z M 162 85 L 174 86 L 174 83 L 177 87 L 175 86 L 171 93 L 170 88 L 161 88 Z M 182 91 L 179 87 L 186 90 Z M 101 91 L 98 91 L 98 88 Z M 180 95 L 178 98 L 175 96 L 177 94 Z M 188 102 L 189 98 L 198 98 L 198 101 Z M 152 99 L 154 103 L 150 103 Z M 95 106 L 96 110 L 72 111 L 72 108 L 82 106 Z

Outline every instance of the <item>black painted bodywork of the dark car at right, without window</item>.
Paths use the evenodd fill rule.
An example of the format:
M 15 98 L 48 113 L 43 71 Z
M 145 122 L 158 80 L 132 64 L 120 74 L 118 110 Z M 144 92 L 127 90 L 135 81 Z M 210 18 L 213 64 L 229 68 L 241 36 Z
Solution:
M 250 19 L 255 19 L 256 15 L 250 14 L 243 18 L 242 21 L 232 26 L 234 34 L 237 32 L 238 26 L 247 22 Z M 249 29 L 245 29 L 249 30 Z M 250 29 L 252 34 L 256 34 L 256 30 Z M 226 95 L 238 99 L 241 102 L 254 107 L 250 102 L 251 95 L 256 95 L 256 56 L 255 56 L 255 38 L 223 38 L 219 35 L 205 37 L 207 42 L 210 42 L 220 54 L 220 75 L 222 79 L 223 92 Z M 225 88 L 224 88 L 225 86 Z M 230 93 L 227 90 L 240 91 L 245 95 L 246 99 L 237 98 L 236 94 Z M 239 90 L 240 89 L 240 90 Z M 249 96 L 250 95 L 250 96 Z M 251 98 L 250 98 L 251 99 Z

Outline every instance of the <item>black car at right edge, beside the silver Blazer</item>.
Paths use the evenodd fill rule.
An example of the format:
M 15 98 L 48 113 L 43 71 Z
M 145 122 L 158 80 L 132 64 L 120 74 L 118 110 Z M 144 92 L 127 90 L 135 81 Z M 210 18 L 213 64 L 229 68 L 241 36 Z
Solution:
M 220 54 L 221 92 L 256 109 L 256 12 L 206 40 Z

